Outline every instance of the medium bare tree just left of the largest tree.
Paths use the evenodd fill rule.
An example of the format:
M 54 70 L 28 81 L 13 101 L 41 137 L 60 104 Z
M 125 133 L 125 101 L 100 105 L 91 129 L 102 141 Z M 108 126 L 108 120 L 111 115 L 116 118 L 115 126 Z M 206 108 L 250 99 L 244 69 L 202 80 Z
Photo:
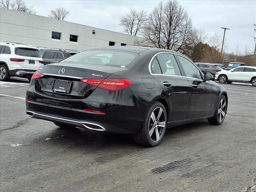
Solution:
M 126 15 L 120 18 L 120 26 L 124 26 L 124 32 L 136 36 L 141 33 L 147 20 L 147 13 L 144 10 L 130 8 Z

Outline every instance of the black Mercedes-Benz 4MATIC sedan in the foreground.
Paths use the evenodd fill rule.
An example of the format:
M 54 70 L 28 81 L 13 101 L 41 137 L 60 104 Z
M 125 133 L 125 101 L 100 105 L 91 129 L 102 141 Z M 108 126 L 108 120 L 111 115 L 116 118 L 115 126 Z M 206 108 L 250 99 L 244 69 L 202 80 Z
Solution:
M 228 96 L 186 56 L 157 48 L 109 46 L 41 66 L 26 93 L 26 114 L 57 126 L 134 134 L 156 146 L 166 128 L 224 121 Z

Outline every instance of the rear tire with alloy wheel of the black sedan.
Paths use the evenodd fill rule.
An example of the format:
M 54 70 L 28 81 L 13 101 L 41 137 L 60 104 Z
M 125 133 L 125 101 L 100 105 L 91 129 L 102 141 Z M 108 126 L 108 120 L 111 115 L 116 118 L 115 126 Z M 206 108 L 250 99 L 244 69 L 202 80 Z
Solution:
M 143 146 L 157 146 L 164 137 L 166 126 L 166 109 L 161 102 L 154 102 L 146 114 L 142 128 L 134 134 L 134 140 Z

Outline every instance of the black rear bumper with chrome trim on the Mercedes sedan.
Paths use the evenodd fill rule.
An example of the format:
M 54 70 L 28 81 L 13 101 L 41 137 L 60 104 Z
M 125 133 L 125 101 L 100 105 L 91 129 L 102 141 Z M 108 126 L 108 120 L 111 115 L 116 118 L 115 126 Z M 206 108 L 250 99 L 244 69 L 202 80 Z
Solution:
M 30 83 L 26 98 L 27 115 L 32 118 L 71 124 L 99 131 L 134 134 L 144 122 L 145 107 L 130 95 L 130 89 L 123 96 L 106 90 L 96 89 L 86 99 L 57 99 L 42 95 Z M 105 95 L 105 96 L 103 96 Z M 120 98 L 117 98 L 120 97 Z M 91 98 L 91 99 L 90 99 Z M 105 114 L 92 114 L 84 109 L 99 110 Z

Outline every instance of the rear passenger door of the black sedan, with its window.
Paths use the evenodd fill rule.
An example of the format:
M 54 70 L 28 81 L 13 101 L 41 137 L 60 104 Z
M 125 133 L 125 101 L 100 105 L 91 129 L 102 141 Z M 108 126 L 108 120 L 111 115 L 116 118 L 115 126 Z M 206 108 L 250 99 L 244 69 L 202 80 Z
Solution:
M 173 54 L 160 53 L 152 60 L 152 75 L 164 90 L 170 104 L 169 121 L 184 120 L 188 114 L 190 86 L 181 76 Z

